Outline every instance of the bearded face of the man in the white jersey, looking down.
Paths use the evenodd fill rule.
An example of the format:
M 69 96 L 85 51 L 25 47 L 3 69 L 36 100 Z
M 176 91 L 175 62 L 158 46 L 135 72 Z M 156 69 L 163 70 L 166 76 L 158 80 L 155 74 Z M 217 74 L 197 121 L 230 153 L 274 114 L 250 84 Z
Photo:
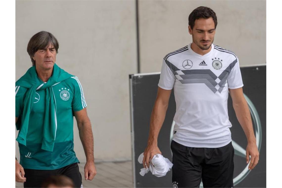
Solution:
M 208 50 L 213 43 L 215 35 L 215 24 L 213 19 L 200 18 L 195 20 L 193 29 L 188 27 L 189 33 L 192 35 L 193 43 L 201 50 Z

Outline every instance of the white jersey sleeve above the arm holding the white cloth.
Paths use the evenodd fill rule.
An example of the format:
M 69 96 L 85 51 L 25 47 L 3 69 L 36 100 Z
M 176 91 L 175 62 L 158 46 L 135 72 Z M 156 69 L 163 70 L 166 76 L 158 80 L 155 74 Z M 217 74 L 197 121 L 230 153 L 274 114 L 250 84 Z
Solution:
M 175 76 L 169 69 L 166 62 L 163 60 L 158 87 L 166 90 L 171 90 L 173 88 L 174 82 L 175 82 Z

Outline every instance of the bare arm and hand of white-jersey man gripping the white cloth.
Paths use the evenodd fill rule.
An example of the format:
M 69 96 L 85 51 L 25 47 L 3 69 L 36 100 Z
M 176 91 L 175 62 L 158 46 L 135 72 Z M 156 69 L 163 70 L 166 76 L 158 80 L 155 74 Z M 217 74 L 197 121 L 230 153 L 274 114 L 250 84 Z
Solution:
M 149 167 L 149 161 L 155 154 L 161 154 L 160 149 L 158 148 L 158 134 L 166 117 L 166 110 L 168 109 L 170 94 L 171 90 L 165 90 L 158 87 L 157 98 L 155 100 L 155 104 L 151 113 L 148 143 L 144 151 L 144 168 L 146 167 L 146 165 L 147 167 Z

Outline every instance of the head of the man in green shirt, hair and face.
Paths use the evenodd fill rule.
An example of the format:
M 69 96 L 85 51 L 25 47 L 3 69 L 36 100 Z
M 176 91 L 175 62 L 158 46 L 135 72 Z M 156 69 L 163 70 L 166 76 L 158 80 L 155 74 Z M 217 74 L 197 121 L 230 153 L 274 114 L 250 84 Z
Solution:
M 53 68 L 58 53 L 59 43 L 50 32 L 40 31 L 28 42 L 27 53 L 32 66 L 41 69 Z

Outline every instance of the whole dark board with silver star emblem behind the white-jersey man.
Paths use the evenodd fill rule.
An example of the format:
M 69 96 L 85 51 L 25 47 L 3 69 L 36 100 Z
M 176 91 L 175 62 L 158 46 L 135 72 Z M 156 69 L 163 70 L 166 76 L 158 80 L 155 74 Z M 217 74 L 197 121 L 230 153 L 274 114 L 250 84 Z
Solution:
M 245 158 L 242 157 L 242 151 L 244 152 L 247 141 L 243 129 L 241 128 L 233 110 L 231 97 L 229 97 L 228 114 L 230 122 L 233 125 L 230 129 L 232 132 L 233 146 L 237 143 L 234 147 L 234 187 L 266 187 L 266 66 L 241 67 L 241 73 L 244 83 L 243 91 L 248 99 L 251 113 L 257 113 L 257 116 L 252 114 L 252 120 L 254 130 L 256 131 L 258 127 L 261 130 L 261 137 L 258 140 L 261 147 L 260 160 L 257 167 L 250 172 L 244 172 L 246 162 Z M 137 74 L 130 76 L 132 108 L 131 123 L 132 134 L 135 138 L 132 144 L 132 151 L 134 153 L 133 163 L 135 167 L 135 171 L 133 172 L 135 176 L 135 187 L 172 187 L 171 171 L 161 178 L 153 176 L 151 172 L 145 174 L 143 177 L 139 174 L 140 169 L 143 168 L 143 166 L 137 161 L 138 156 L 147 146 L 149 121 L 155 98 L 157 96 L 158 80 L 159 73 Z M 253 104 L 255 110 L 251 109 L 250 103 Z M 158 137 L 158 147 L 160 148 L 160 151 L 170 160 L 171 153 L 169 137 L 174 114 L 175 99 L 172 92 L 169 99 L 169 107 L 166 113 L 166 118 Z M 259 118 L 259 121 L 257 121 L 256 118 Z

